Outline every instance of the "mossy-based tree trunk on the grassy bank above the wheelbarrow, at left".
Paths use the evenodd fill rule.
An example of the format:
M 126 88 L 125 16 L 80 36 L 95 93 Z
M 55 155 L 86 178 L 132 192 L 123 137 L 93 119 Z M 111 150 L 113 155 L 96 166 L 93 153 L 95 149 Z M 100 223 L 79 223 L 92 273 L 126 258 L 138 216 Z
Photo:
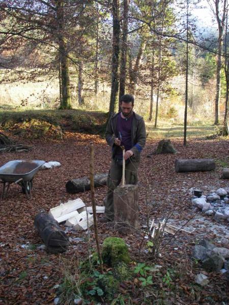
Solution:
M 65 20 L 64 20 L 64 1 L 57 0 L 56 3 L 56 19 L 58 22 L 58 43 L 61 60 L 61 106 L 60 109 L 71 109 L 70 94 L 70 77 L 69 77 L 69 59 L 66 39 L 64 37 Z

